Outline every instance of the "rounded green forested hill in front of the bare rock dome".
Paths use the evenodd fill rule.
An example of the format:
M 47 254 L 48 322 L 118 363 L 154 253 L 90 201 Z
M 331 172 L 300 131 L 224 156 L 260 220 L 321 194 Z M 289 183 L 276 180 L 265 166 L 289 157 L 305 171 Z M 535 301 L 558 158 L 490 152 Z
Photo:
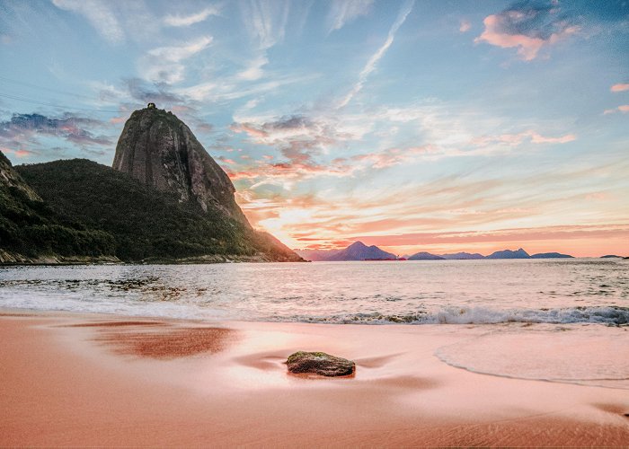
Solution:
M 268 233 L 221 209 L 156 189 L 110 167 L 74 159 L 16 167 L 60 216 L 111 235 L 120 260 L 298 261 Z

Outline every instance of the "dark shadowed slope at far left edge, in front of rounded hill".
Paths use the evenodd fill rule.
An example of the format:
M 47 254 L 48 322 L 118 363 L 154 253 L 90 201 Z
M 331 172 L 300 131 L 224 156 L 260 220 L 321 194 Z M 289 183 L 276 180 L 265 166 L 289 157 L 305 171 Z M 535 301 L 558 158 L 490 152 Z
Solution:
M 59 215 L 0 152 L 0 263 L 117 260 L 111 234 Z

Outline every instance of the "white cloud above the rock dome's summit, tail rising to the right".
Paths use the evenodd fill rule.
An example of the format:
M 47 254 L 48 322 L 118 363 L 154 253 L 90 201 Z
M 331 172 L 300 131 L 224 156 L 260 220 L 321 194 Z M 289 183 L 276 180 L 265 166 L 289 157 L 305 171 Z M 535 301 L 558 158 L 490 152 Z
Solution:
M 146 79 L 156 83 L 179 83 L 185 72 L 182 61 L 208 48 L 211 43 L 211 36 L 202 36 L 180 46 L 153 48 L 140 58 L 141 72 L 146 74 Z

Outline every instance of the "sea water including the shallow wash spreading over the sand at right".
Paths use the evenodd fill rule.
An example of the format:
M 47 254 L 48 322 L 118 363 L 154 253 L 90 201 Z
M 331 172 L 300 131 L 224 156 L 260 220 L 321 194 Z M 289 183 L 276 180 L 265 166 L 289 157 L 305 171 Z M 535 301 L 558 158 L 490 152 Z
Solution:
M 476 373 L 629 389 L 627 260 L 4 267 L 0 307 L 465 326 L 474 337 L 434 356 Z

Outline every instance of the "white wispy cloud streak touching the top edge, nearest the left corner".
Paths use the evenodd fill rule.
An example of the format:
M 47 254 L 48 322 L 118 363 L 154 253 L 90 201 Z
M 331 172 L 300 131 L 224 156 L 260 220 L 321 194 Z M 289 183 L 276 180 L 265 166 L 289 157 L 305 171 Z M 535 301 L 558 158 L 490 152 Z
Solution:
M 53 0 L 60 9 L 83 15 L 106 40 L 119 43 L 125 40 L 125 32 L 111 11 L 111 2 L 102 0 Z

